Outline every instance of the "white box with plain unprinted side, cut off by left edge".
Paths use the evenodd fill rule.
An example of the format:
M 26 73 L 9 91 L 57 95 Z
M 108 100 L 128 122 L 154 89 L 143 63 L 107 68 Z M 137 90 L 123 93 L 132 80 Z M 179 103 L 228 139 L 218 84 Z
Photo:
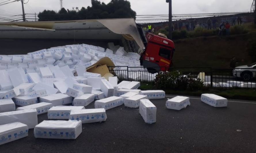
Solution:
M 0 113 L 0 125 L 12 122 L 21 122 L 28 125 L 29 129 L 33 129 L 37 125 L 37 110 L 29 109 Z

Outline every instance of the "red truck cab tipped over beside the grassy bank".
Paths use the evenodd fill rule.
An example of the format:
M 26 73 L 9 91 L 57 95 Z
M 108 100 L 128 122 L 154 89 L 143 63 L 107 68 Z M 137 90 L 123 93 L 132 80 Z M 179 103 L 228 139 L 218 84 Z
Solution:
M 146 39 L 148 43 L 142 55 L 143 66 L 154 67 L 156 71 L 167 71 L 172 65 L 175 51 L 173 41 L 152 33 L 147 33 Z

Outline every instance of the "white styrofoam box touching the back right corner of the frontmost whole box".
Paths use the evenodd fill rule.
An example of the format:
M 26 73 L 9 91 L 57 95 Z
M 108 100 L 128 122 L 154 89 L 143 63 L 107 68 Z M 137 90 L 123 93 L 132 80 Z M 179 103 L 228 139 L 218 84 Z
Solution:
M 105 109 L 81 109 L 71 110 L 70 120 L 82 121 L 82 123 L 105 122 L 107 114 Z

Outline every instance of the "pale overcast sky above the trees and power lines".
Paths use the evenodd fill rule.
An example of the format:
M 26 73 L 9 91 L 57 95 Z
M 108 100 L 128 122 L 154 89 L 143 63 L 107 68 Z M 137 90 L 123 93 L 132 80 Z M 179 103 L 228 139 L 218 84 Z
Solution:
M 0 0 L 0 3 L 6 0 Z M 27 2 L 28 0 L 24 0 Z M 108 3 L 110 0 L 100 0 Z M 145 14 L 168 14 L 168 3 L 165 0 L 129 0 L 131 8 L 137 15 Z M 188 13 L 220 13 L 250 11 L 253 0 L 173 0 L 173 14 Z M 63 0 L 66 9 L 72 7 L 87 7 L 91 5 L 90 0 Z M 29 0 L 24 4 L 25 13 L 39 13 L 44 9 L 60 9 L 59 0 Z M 0 6 L 0 15 L 21 14 L 21 2 L 13 2 Z

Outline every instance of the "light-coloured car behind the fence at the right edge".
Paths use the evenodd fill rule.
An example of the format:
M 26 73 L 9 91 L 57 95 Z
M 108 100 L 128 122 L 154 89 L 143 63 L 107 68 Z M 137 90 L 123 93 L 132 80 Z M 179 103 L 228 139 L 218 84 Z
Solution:
M 256 62 L 236 67 L 233 70 L 233 76 L 242 78 L 244 81 L 252 80 L 256 77 Z

